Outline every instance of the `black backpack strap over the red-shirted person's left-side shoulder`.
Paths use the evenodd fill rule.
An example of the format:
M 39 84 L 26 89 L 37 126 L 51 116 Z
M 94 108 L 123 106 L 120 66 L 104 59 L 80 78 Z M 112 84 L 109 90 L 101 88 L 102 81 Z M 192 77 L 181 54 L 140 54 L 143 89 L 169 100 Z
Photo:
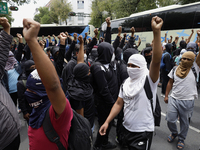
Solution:
M 53 125 L 51 124 L 50 116 L 49 116 L 49 109 L 46 111 L 45 118 L 43 120 L 42 126 L 45 135 L 49 139 L 49 141 L 56 143 L 59 150 L 66 150 L 66 148 L 63 146 L 63 144 L 60 142 L 60 137 L 56 133 L 55 129 L 53 128 Z

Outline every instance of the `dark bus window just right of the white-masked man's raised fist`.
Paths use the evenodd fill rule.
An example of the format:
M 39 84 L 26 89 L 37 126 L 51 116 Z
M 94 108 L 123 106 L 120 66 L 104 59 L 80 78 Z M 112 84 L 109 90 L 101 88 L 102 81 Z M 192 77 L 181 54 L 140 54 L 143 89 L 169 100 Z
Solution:
M 196 6 L 170 10 L 166 14 L 164 30 L 192 28 Z M 185 21 L 187 19 L 187 22 Z

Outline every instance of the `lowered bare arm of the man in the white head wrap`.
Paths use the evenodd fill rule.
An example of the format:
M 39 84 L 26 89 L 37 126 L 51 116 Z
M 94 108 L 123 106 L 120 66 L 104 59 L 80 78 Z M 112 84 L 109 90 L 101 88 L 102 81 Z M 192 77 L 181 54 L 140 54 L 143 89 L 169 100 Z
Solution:
M 121 111 L 123 105 L 124 105 L 123 99 L 118 97 L 117 101 L 115 102 L 115 104 L 113 105 L 113 107 L 112 107 L 112 109 L 110 111 L 110 114 L 109 114 L 108 118 L 106 119 L 104 124 L 99 129 L 99 133 L 101 135 L 105 135 L 106 134 L 106 130 L 108 128 L 109 123 L 115 118 L 115 116 L 117 116 L 119 114 L 119 112 Z

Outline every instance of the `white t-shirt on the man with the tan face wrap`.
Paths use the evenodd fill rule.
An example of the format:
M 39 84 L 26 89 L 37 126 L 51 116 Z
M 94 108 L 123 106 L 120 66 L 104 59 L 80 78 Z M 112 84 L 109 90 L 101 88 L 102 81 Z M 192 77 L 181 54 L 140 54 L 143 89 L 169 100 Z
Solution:
M 193 63 L 195 67 L 197 76 L 199 75 L 199 67 L 196 62 Z M 177 69 L 177 68 L 176 68 Z M 198 98 L 196 80 L 192 69 L 190 69 L 188 75 L 181 79 L 176 76 L 176 69 L 174 71 L 174 83 L 172 87 L 171 97 L 178 100 L 194 100 Z M 173 69 L 172 69 L 173 70 Z M 168 74 L 168 76 L 173 79 L 172 72 Z

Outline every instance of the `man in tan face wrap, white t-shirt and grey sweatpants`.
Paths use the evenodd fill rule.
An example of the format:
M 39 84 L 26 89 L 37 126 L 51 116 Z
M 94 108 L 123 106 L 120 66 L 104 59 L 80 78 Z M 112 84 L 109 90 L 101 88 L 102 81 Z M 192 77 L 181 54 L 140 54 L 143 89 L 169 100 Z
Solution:
M 173 68 L 168 75 L 170 79 L 164 101 L 168 103 L 167 125 L 171 134 L 168 136 L 167 141 L 171 143 L 178 136 L 178 149 L 183 149 L 185 146 L 184 140 L 189 129 L 189 117 L 191 117 L 194 108 L 194 99 L 198 98 L 195 76 L 198 76 L 200 71 L 200 56 L 197 56 L 195 62 L 194 60 L 195 54 L 193 52 L 185 52 L 177 68 Z M 168 99 L 171 89 L 172 92 Z M 178 133 L 176 126 L 178 117 L 180 120 L 180 133 Z

